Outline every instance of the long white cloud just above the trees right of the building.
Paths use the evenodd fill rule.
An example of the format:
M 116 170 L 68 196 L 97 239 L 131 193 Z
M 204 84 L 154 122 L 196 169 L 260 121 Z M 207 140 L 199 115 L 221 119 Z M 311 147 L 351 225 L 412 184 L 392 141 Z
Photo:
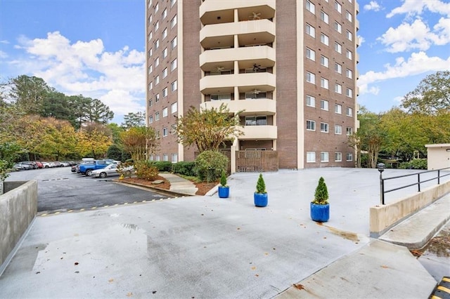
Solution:
M 385 65 L 383 72 L 369 71 L 362 74 L 358 80 L 359 94 L 373 93 L 376 91 L 371 84 L 395 78 L 404 78 L 427 72 L 444 71 L 450 65 L 449 58 L 428 57 L 425 52 L 412 53 L 408 60 L 397 58 L 394 65 Z

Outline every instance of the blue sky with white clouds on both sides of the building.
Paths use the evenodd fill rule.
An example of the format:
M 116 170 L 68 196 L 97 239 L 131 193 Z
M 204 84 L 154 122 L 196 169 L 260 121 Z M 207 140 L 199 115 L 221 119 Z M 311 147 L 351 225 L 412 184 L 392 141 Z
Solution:
M 450 69 L 449 1 L 358 3 L 360 105 L 385 112 L 426 75 Z M 0 0 L 0 81 L 41 77 L 65 94 L 102 100 L 122 123 L 124 114 L 146 105 L 145 6 L 145 0 Z

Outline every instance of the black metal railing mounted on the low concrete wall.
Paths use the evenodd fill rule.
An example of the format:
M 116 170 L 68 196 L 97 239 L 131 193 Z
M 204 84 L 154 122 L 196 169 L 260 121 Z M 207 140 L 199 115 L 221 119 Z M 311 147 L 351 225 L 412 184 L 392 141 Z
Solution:
M 383 169 L 384 169 L 384 164 L 383 165 L 378 164 L 378 171 L 380 171 L 380 204 L 385 204 L 385 194 L 386 193 L 401 190 L 401 189 L 411 187 L 414 185 L 417 185 L 417 191 L 420 192 L 420 184 L 423 184 L 424 182 L 430 182 L 431 180 L 437 180 L 437 185 L 440 185 L 441 178 L 444 178 L 447 175 L 450 175 L 450 167 L 446 167 L 446 168 L 440 168 L 440 169 L 436 169 L 436 170 L 432 170 L 432 171 L 421 171 L 420 173 L 410 173 L 407 175 L 393 176 L 391 178 L 383 178 L 383 175 L 382 175 Z M 446 172 L 445 170 L 448 170 L 449 172 Z M 433 173 L 433 172 L 436 172 L 437 175 L 433 176 L 432 178 L 426 178 L 426 179 L 420 180 L 420 175 L 423 175 L 424 173 Z M 417 176 L 417 182 L 413 182 L 411 184 L 404 185 L 404 186 L 397 187 L 397 188 L 392 188 L 390 190 L 385 190 L 385 181 L 386 180 L 395 180 L 398 178 L 406 178 L 406 177 L 414 176 L 414 175 Z

